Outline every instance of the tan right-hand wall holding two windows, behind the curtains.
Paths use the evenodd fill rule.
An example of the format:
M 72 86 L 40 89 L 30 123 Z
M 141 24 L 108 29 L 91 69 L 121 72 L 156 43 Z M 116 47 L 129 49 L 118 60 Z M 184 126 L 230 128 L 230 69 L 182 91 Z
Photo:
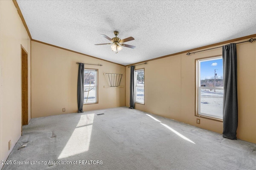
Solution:
M 135 69 L 145 68 L 145 105 L 135 104 L 135 108 L 222 133 L 222 122 L 201 117 L 200 125 L 198 125 L 196 124 L 198 117 L 194 116 L 195 59 L 215 55 L 222 55 L 222 48 L 191 54 L 190 56 L 184 53 L 136 66 Z M 244 141 L 256 143 L 256 43 L 238 44 L 237 56 L 237 137 Z M 129 93 L 130 68 L 126 67 L 126 106 L 129 106 L 130 102 Z

